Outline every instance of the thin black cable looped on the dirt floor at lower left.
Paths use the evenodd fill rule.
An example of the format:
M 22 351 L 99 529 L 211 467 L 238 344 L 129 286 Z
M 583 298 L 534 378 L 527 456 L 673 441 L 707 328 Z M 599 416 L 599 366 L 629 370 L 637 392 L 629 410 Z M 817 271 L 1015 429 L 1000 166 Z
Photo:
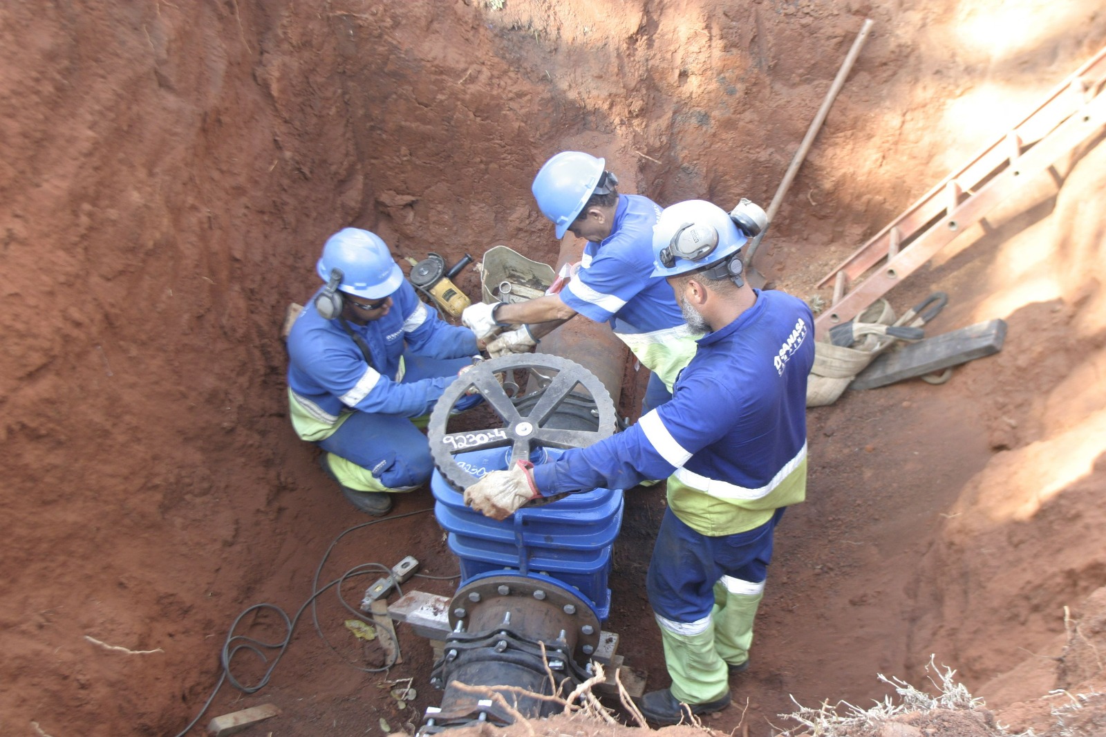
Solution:
M 390 522 L 390 521 L 396 520 L 396 519 L 403 519 L 404 517 L 413 517 L 414 515 L 425 515 L 428 511 L 434 511 L 434 509 L 432 508 L 430 508 L 430 509 L 418 509 L 418 510 L 415 510 L 415 511 L 411 511 L 411 512 L 406 512 L 406 513 L 403 513 L 403 515 L 395 515 L 393 517 L 386 517 L 384 519 L 374 519 L 374 520 L 371 520 L 368 522 L 362 522 L 361 525 L 355 525 L 355 526 L 353 526 L 351 528 L 347 528 L 347 529 L 343 530 L 342 533 L 338 534 L 336 538 L 334 538 L 334 540 L 331 542 L 330 547 L 326 549 L 326 552 L 323 554 L 323 559 L 319 562 L 319 568 L 315 569 L 315 575 L 314 575 L 314 578 L 312 579 L 312 582 L 311 582 L 311 596 L 307 598 L 307 601 L 303 602 L 303 604 L 296 611 L 295 616 L 293 616 L 291 620 L 289 619 L 289 616 L 284 612 L 284 610 L 282 610 L 280 606 L 276 606 L 275 604 L 269 604 L 269 603 L 253 604 L 251 606 L 248 606 L 237 617 L 234 617 L 234 622 L 230 625 L 230 631 L 227 633 L 227 639 L 223 641 L 222 651 L 219 654 L 219 662 L 220 662 L 220 665 L 222 666 L 222 674 L 219 676 L 219 682 L 215 685 L 215 688 L 211 691 L 211 695 L 208 696 L 208 698 L 204 703 L 204 706 L 200 709 L 199 714 L 196 715 L 196 718 L 194 718 L 191 722 L 189 722 L 188 726 L 186 726 L 182 730 L 180 730 L 176 735 L 176 737 L 185 737 L 185 735 L 187 735 L 188 731 L 199 723 L 199 720 L 207 713 L 208 708 L 210 708 L 211 703 L 215 702 L 215 697 L 216 697 L 216 695 L 218 695 L 219 689 L 222 688 L 223 683 L 226 683 L 226 682 L 229 681 L 230 684 L 232 686 L 234 686 L 234 688 L 238 688 L 239 691 L 241 691 L 242 693 L 246 693 L 246 694 L 253 694 L 253 693 L 257 693 L 257 692 L 261 691 L 262 688 L 264 688 L 264 686 L 269 683 L 269 678 L 272 676 L 272 672 L 276 667 L 276 664 L 280 663 L 280 660 L 284 656 L 284 653 L 288 651 L 288 645 L 289 645 L 289 643 L 292 640 L 292 633 L 295 631 L 295 625 L 299 623 L 300 616 L 303 614 L 303 611 L 307 608 L 309 604 L 311 605 L 311 615 L 312 615 L 312 619 L 314 620 L 315 631 L 319 632 L 319 635 L 323 639 L 323 642 L 326 643 L 326 646 L 331 650 L 331 652 L 333 652 L 335 654 L 338 654 L 337 651 L 334 650 L 334 647 L 326 640 L 326 637 L 323 636 L 322 630 L 319 626 L 319 617 L 317 617 L 317 612 L 316 612 L 316 609 L 315 609 L 315 600 L 323 592 L 325 592 L 327 589 L 330 589 L 332 587 L 337 587 L 338 601 L 342 603 L 342 605 L 345 606 L 347 610 L 352 611 L 359 619 L 366 619 L 364 616 L 364 614 L 362 614 L 357 610 L 354 610 L 352 606 L 349 606 L 349 604 L 344 599 L 342 599 L 342 584 L 346 581 L 346 579 L 356 578 L 358 575 L 367 575 L 369 572 L 375 571 L 377 569 L 383 569 L 383 570 L 387 571 L 388 573 L 392 572 L 392 569 L 387 568 L 386 565 L 383 565 L 380 563 L 361 563 L 361 564 L 355 565 L 354 568 L 349 569 L 345 573 L 343 573 L 341 578 L 334 579 L 333 581 L 331 581 L 330 583 L 327 583 L 326 585 L 324 585 L 322 589 L 320 589 L 319 588 L 319 577 L 322 573 L 323 564 L 326 563 L 326 559 L 330 558 L 331 552 L 334 550 L 334 547 L 338 543 L 338 541 L 342 538 L 344 538 L 346 534 L 348 534 L 348 533 L 351 533 L 351 532 L 353 532 L 355 530 L 359 530 L 362 528 L 369 527 L 371 525 L 378 525 L 380 522 Z M 364 570 L 362 570 L 362 569 L 364 569 Z M 450 578 L 456 578 L 456 577 L 450 577 Z M 399 585 L 398 585 L 398 583 L 396 584 L 396 591 L 399 592 Z M 250 614 L 251 612 L 261 611 L 261 610 L 271 610 L 271 611 L 274 611 L 284 621 L 284 627 L 285 627 L 286 634 L 284 635 L 284 639 L 282 641 L 276 642 L 276 643 L 265 643 L 265 642 L 261 642 L 259 640 L 255 640 L 253 637 L 247 637 L 244 635 L 236 635 L 234 634 L 234 629 L 238 626 L 239 622 L 242 621 L 242 617 L 244 617 L 247 614 Z M 384 634 L 384 636 L 387 636 L 387 637 L 392 636 L 390 633 L 387 633 L 383 627 L 377 630 L 377 635 L 379 636 L 380 634 Z M 243 686 L 231 674 L 231 671 L 230 671 L 231 662 L 234 660 L 234 655 L 237 655 L 239 653 L 239 651 L 244 650 L 244 651 L 251 652 L 254 655 L 257 655 L 262 661 L 262 663 L 268 663 L 268 658 L 265 657 L 264 653 L 262 652 L 262 648 L 276 650 L 279 652 L 278 652 L 276 656 L 273 658 L 272 663 L 265 669 L 264 675 L 262 676 L 261 681 L 257 685 L 254 685 L 254 686 Z M 399 652 L 398 643 L 396 643 L 395 652 L 397 652 L 397 653 Z M 341 657 L 341 655 L 340 655 L 340 657 Z M 348 661 L 346 661 L 346 663 L 349 664 Z M 361 667 L 358 667 L 357 669 L 358 671 L 363 671 L 365 673 L 379 673 L 382 671 L 387 671 L 393 665 L 395 665 L 394 658 L 393 658 L 393 662 L 387 663 L 386 665 L 384 665 L 383 667 L 379 667 L 379 668 L 361 668 Z M 356 667 L 356 666 L 354 666 L 354 667 Z

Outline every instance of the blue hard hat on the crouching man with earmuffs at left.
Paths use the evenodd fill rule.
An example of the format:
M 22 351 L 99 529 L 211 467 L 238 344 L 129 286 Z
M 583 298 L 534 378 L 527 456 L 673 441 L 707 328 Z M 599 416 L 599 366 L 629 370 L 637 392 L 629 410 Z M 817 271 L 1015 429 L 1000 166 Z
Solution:
M 379 236 L 361 228 L 343 228 L 326 239 L 315 266 L 319 278 L 330 281 L 331 270 L 342 270 L 338 291 L 376 300 L 404 283 L 404 272 Z

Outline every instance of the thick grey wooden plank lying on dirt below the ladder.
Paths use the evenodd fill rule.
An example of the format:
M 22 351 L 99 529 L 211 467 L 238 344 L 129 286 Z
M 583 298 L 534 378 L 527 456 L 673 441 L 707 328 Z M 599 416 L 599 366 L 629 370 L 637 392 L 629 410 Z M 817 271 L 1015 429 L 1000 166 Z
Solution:
M 848 385 L 866 390 L 886 386 L 905 378 L 925 376 L 1002 350 L 1006 338 L 1004 320 L 989 320 L 911 343 L 899 351 L 884 353 Z

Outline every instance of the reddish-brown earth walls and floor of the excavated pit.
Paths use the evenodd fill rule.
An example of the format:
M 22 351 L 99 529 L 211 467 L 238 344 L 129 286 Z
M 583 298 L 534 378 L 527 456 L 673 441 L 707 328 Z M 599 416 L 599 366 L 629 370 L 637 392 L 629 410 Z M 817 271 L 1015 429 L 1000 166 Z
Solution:
M 247 606 L 291 615 L 313 579 L 406 554 L 456 573 L 426 489 L 331 547 L 365 520 L 289 427 L 279 338 L 328 233 L 372 229 L 401 263 L 497 245 L 553 263 L 562 247 L 529 188 L 568 148 L 606 156 L 624 191 L 661 205 L 766 205 L 866 17 L 875 34 L 758 263 L 806 299 L 827 298 L 815 283 L 830 267 L 1106 43 L 1096 3 L 0 11 L 3 731 L 176 734 Z M 942 386 L 849 392 L 810 413 L 810 498 L 781 527 L 738 706 L 709 726 L 794 726 L 778 716 L 792 695 L 866 704 L 887 691 L 877 673 L 921 685 L 930 654 L 1039 734 L 1048 704 L 1032 699 L 1100 684 L 1094 143 L 889 294 L 902 310 L 947 291 L 932 332 L 1003 318 L 1002 353 Z M 479 294 L 473 270 L 457 282 Z M 626 367 L 625 411 L 643 380 Z M 644 579 L 662 509 L 662 489 L 628 492 L 606 623 L 653 687 L 667 676 Z M 343 595 L 356 603 L 376 575 Z M 309 609 L 268 685 L 223 685 L 201 724 L 272 703 L 282 715 L 255 730 L 377 734 L 436 704 L 425 642 L 400 629 L 404 662 L 366 672 L 384 656 L 351 636 L 333 592 L 317 619 L 325 642 Z M 239 631 L 283 636 L 272 611 Z M 1092 650 L 1072 651 L 1073 632 Z M 246 661 L 234 677 L 250 686 L 264 666 Z M 380 686 L 406 678 L 418 695 L 400 708 Z

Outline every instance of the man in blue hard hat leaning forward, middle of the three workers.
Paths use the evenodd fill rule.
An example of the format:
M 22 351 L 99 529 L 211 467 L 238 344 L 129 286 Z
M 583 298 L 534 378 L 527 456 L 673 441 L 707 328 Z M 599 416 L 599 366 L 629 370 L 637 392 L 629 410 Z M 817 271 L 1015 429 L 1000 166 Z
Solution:
M 653 226 L 660 208 L 648 197 L 618 194 L 617 184 L 606 159 L 567 150 L 547 160 L 531 189 L 557 238 L 571 232 L 587 241 L 580 269 L 556 294 L 473 304 L 461 321 L 489 341 L 492 355 L 528 352 L 576 314 L 609 322 L 651 372 L 644 414 L 671 397 L 676 375 L 695 354 L 699 335 L 684 322 L 665 280 L 653 274 Z M 504 325 L 520 323 L 493 339 Z

